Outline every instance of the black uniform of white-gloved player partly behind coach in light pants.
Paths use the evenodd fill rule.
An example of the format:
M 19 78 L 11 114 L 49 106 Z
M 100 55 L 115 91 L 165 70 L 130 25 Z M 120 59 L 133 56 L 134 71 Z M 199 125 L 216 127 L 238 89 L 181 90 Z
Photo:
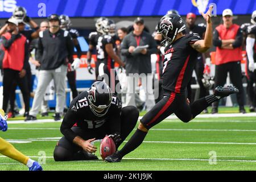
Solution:
M 79 32 L 76 29 L 71 28 L 67 31 L 69 32 L 69 35 L 71 35 L 72 39 L 77 39 L 79 37 Z M 82 55 L 81 47 L 79 44 L 74 46 L 76 47 L 76 50 L 77 50 L 77 57 L 80 59 Z M 78 95 L 78 92 L 76 89 L 76 71 L 68 69 L 67 77 L 68 77 L 69 87 L 71 88 L 71 91 L 72 91 L 72 98 L 75 98 Z

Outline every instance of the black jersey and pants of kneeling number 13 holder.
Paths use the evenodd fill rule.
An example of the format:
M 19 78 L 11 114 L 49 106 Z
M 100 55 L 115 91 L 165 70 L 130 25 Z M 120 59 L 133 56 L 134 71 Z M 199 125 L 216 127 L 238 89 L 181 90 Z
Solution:
M 93 114 L 88 103 L 88 92 L 82 92 L 70 104 L 67 114 L 61 123 L 60 131 L 64 135 L 54 151 L 56 161 L 79 160 L 76 153 L 82 148 L 73 143 L 77 136 L 84 140 L 102 139 L 105 135 L 120 134 L 122 141 L 134 129 L 139 112 L 134 106 L 122 108 L 121 101 L 113 95 L 108 113 L 103 117 Z

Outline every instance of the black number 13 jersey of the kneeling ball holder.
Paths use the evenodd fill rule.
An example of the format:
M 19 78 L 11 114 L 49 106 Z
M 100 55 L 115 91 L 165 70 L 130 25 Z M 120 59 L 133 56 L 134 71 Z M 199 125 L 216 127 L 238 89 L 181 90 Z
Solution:
M 76 125 L 88 132 L 97 131 L 102 126 L 108 125 L 112 133 L 120 134 L 122 103 L 118 97 L 113 94 L 112 102 L 108 112 L 103 117 L 93 114 L 88 103 L 88 92 L 82 92 L 74 98 L 69 106 L 67 114 L 61 123 L 61 133 L 70 141 L 77 136 L 71 127 Z

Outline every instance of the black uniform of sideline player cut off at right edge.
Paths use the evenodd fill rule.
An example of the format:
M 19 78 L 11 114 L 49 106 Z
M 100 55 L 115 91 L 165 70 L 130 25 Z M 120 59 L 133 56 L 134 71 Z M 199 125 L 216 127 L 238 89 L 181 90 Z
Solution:
M 242 27 L 241 27 L 242 28 Z M 243 29 L 242 29 L 243 30 Z M 256 37 L 256 24 L 247 26 L 246 28 L 246 35 L 253 34 Z M 256 43 L 254 43 L 254 63 L 256 60 Z M 249 71 L 248 66 L 249 66 L 249 60 L 248 58 L 246 59 L 246 77 L 247 77 L 247 93 L 249 96 L 249 101 L 251 102 L 250 105 L 253 106 L 254 108 L 256 107 L 256 86 L 253 86 L 253 84 L 256 84 L 256 71 L 254 72 Z

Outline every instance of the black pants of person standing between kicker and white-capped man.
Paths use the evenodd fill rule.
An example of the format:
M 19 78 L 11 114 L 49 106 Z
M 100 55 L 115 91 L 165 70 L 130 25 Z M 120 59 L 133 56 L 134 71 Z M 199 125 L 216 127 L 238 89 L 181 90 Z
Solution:
M 203 81 L 202 81 L 202 78 L 203 78 L 203 75 L 204 75 L 204 61 L 203 61 L 203 59 L 198 59 L 197 58 L 197 63 L 195 65 L 195 72 L 196 72 L 197 82 L 198 82 L 199 88 L 200 88 L 199 98 L 202 98 L 202 97 L 205 97 L 209 94 L 209 90 L 204 87 L 204 84 L 203 84 Z M 192 81 L 192 79 L 188 82 L 187 90 L 188 90 L 188 99 L 189 99 L 189 101 L 193 102 L 194 97 L 192 97 L 191 81 Z

